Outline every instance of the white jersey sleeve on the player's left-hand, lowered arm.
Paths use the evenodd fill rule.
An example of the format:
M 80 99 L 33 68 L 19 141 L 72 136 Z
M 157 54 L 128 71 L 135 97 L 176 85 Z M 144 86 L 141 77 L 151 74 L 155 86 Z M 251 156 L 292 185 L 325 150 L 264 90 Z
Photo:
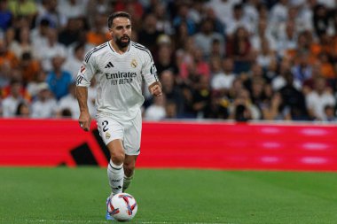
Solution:
M 89 87 L 92 77 L 97 73 L 95 57 L 84 59 L 76 76 L 76 86 Z

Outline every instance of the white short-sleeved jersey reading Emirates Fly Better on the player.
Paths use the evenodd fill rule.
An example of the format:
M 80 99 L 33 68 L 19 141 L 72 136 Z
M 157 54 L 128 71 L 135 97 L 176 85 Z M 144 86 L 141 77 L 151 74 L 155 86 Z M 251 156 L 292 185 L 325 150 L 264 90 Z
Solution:
M 97 81 L 97 116 L 112 116 L 116 120 L 136 117 L 144 103 L 142 80 L 149 86 L 158 81 L 150 50 L 137 42 L 129 49 L 117 53 L 110 42 L 90 50 L 77 74 L 76 85 L 89 87 L 95 76 Z

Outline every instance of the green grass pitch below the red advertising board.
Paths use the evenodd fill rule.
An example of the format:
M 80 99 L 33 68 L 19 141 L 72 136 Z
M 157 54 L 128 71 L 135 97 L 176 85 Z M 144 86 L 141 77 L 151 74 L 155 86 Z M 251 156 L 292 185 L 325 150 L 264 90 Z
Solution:
M 337 223 L 337 173 L 137 169 L 142 224 Z M 106 169 L 0 168 L 0 223 L 106 221 Z

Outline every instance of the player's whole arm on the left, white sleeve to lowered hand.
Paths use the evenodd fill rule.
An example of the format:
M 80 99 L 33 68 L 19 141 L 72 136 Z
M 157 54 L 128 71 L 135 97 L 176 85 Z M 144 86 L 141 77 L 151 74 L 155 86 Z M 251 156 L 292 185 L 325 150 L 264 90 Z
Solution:
M 88 55 L 88 54 L 87 54 Z M 88 108 L 88 87 L 96 73 L 94 57 L 86 57 L 76 78 L 76 97 L 80 107 L 78 122 L 84 131 L 90 130 L 91 116 Z

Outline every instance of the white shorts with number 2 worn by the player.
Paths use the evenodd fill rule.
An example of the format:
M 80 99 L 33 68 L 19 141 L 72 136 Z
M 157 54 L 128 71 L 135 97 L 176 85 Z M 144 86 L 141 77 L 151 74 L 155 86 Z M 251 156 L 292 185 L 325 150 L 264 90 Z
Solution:
M 141 116 L 139 112 L 133 120 L 128 121 L 114 120 L 110 117 L 98 118 L 99 135 L 106 145 L 115 139 L 121 139 L 125 154 L 139 155 L 142 132 Z

